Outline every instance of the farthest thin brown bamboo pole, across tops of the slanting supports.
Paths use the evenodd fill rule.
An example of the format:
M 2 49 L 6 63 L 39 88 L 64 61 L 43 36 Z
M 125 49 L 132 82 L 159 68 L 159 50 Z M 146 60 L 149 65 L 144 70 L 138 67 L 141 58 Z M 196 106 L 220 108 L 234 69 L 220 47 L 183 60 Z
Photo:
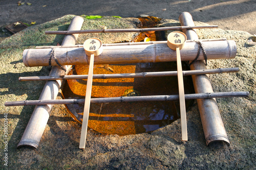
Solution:
M 86 33 L 123 33 L 123 32 L 148 32 L 148 31 L 166 31 L 166 30 L 184 30 L 184 29 L 211 29 L 218 26 L 177 26 L 145 29 L 101 29 L 101 30 L 79 30 L 79 31 L 46 31 L 45 34 L 86 34 Z

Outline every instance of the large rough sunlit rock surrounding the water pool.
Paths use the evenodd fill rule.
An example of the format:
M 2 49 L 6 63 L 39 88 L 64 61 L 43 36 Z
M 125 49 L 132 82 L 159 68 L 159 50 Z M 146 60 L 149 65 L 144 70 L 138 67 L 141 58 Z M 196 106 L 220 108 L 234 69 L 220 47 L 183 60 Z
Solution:
M 204 1 L 203 1 L 204 2 Z M 203 3 L 202 2 L 202 3 Z M 239 2 L 239 1 L 233 1 Z M 247 1 L 249 2 L 249 1 Z M 184 2 L 185 3 L 185 2 Z M 188 3 L 188 2 L 186 2 Z M 189 2 L 191 3 L 191 2 Z M 60 6 L 61 7 L 61 6 Z M 166 8 L 166 7 L 165 7 Z M 165 12 L 165 11 L 163 11 Z M 237 57 L 230 60 L 209 60 L 207 68 L 240 67 L 230 74 L 210 75 L 215 92 L 249 91 L 248 98 L 217 99 L 221 116 L 230 139 L 206 147 L 200 114 L 195 102 L 187 112 L 188 138 L 181 141 L 180 120 L 151 133 L 138 135 L 105 135 L 88 131 L 86 149 L 80 150 L 81 125 L 72 120 L 63 105 L 55 105 L 37 149 L 16 146 L 22 137 L 33 106 L 5 107 L 6 101 L 37 100 L 45 82 L 18 82 L 20 76 L 46 76 L 49 67 L 25 67 L 22 53 L 26 48 L 61 43 L 63 36 L 45 35 L 47 30 L 67 30 L 72 15 L 30 27 L 0 43 L 0 110 L 1 126 L 8 113 L 8 167 L 4 166 L 1 142 L 1 169 L 255 169 L 256 139 L 256 46 L 247 44 L 252 35 L 244 31 L 200 29 L 199 38 L 227 38 L 237 43 Z M 177 19 L 177 17 L 175 18 Z M 82 29 L 134 28 L 136 18 L 103 17 L 86 19 Z M 205 25 L 195 22 L 196 25 Z M 161 26 L 178 26 L 177 20 L 164 19 Z M 77 43 L 92 35 L 80 36 Z M 94 34 L 100 39 L 104 34 Z M 123 41 L 133 34 L 118 34 Z M 112 38 L 112 39 L 111 39 Z M 116 37 L 104 39 L 113 43 Z M 61 99 L 60 95 L 58 99 Z M 4 131 L 0 132 L 1 141 Z

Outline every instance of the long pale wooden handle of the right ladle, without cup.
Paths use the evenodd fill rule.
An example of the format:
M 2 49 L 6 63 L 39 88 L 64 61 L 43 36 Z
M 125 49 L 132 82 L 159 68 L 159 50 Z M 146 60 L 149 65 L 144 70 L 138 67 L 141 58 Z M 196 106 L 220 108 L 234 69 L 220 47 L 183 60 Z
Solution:
M 177 55 L 177 74 L 178 74 L 179 98 L 180 98 L 181 137 L 183 141 L 187 141 L 186 104 L 185 104 L 185 93 L 184 93 L 182 65 L 181 65 L 179 47 L 176 47 L 176 55 Z

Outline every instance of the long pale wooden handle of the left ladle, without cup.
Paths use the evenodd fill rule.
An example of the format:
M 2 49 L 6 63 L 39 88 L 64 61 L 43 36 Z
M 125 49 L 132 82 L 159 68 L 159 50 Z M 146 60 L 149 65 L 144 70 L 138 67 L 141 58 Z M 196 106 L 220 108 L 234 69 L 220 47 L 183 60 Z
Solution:
M 80 149 L 84 149 L 86 147 L 86 136 L 87 136 L 87 127 L 88 127 L 91 93 L 92 93 L 92 82 L 93 82 L 93 63 L 94 63 L 94 54 L 91 54 L 88 79 L 87 79 L 87 87 L 86 87 L 86 100 L 84 101 L 84 109 L 83 109 L 82 130 L 81 130 L 81 137 L 80 137 L 80 144 L 79 144 Z

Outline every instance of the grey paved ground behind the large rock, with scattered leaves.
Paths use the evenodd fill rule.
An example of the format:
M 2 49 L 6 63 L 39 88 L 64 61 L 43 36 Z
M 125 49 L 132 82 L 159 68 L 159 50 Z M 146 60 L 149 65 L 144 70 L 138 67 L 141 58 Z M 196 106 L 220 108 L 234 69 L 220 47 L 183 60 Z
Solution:
M 179 15 L 189 12 L 194 21 L 218 25 L 224 30 L 246 31 L 256 34 L 256 0 L 186 0 L 186 1 L 94 1 L 79 0 L 49 1 L 25 0 L 18 6 L 17 0 L 2 0 L 0 3 L 0 40 L 11 34 L 4 29 L 16 21 L 30 24 L 44 23 L 64 15 L 102 15 L 137 17 L 145 14 L 160 18 L 177 19 Z M 30 3 L 32 5 L 27 5 Z M 1 38 L 2 37 L 2 38 Z

